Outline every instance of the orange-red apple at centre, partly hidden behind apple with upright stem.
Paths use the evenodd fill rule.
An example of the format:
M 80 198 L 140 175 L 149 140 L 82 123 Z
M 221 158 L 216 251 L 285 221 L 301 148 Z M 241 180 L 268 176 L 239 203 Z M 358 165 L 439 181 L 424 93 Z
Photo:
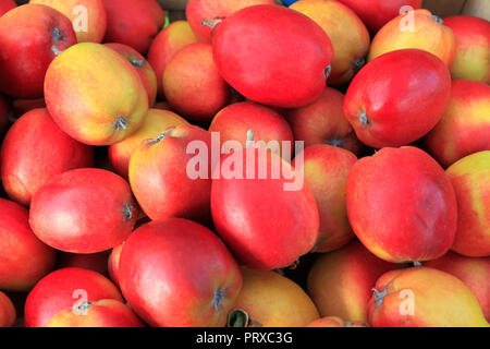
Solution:
M 278 154 L 281 154 L 282 146 L 286 146 L 282 142 L 290 142 L 289 155 L 287 155 L 286 160 L 287 157 L 291 159 L 294 152 L 293 131 L 287 121 L 271 108 L 252 101 L 232 104 L 221 109 L 209 127 L 209 132 L 220 133 L 221 146 L 226 141 L 237 141 L 245 147 L 248 130 L 254 130 L 256 142 L 279 142 Z

